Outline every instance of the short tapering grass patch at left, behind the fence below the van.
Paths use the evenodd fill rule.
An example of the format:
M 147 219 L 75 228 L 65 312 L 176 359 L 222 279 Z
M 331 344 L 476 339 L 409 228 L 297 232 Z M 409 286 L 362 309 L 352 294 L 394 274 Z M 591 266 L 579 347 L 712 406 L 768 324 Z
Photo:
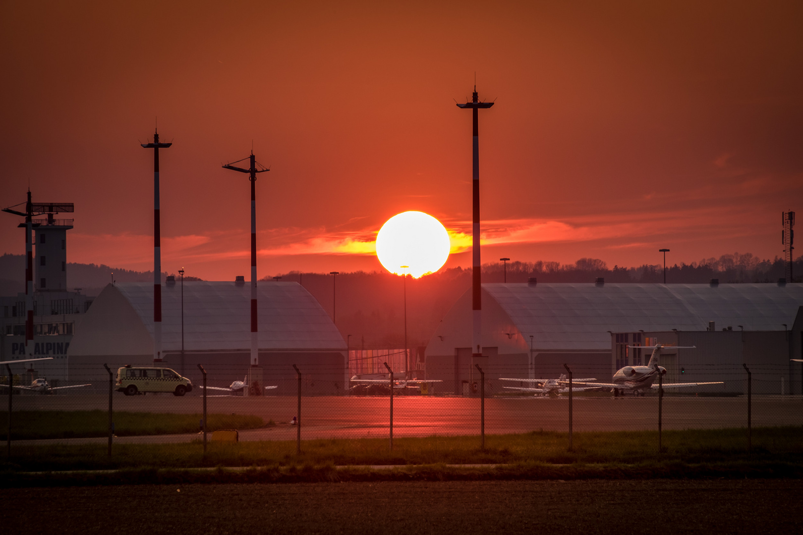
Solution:
M 116 436 L 175 435 L 198 432 L 202 415 L 173 412 L 113 411 Z M 108 436 L 108 411 L 14 411 L 13 440 L 72 439 Z M 267 424 L 259 416 L 210 414 L 206 428 L 255 429 Z M 8 413 L 0 413 L 0 440 L 8 438 Z

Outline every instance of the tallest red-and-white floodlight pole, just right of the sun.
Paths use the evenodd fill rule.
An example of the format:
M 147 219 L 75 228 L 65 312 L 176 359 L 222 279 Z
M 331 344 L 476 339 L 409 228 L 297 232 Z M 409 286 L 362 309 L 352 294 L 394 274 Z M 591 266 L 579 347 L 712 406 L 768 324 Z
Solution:
M 482 344 L 482 274 L 479 260 L 479 110 L 493 106 L 492 102 L 479 102 L 477 87 L 471 94 L 471 102 L 458 104 L 463 109 L 471 110 L 473 137 L 471 158 L 471 188 L 472 188 L 472 216 L 471 216 L 471 357 L 475 359 L 483 356 Z M 471 368 L 469 368 L 471 370 Z

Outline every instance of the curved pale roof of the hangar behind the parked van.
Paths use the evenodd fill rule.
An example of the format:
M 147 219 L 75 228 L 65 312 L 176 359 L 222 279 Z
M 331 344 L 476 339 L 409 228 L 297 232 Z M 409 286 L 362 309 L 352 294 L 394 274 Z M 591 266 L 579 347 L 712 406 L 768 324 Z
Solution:
M 346 349 L 345 341 L 332 323 L 332 318 L 316 298 L 297 282 L 259 282 L 257 291 L 260 350 Z M 250 301 L 249 283 L 185 282 L 185 351 L 248 349 L 251 344 Z M 162 350 L 180 351 L 180 282 L 162 285 L 161 310 Z M 141 347 L 139 340 L 147 338 L 146 342 L 153 348 L 153 283 L 122 282 L 106 286 L 92 303 L 76 338 L 79 334 L 110 338 L 114 331 L 121 329 L 124 332 L 119 332 L 116 337 L 117 345 L 129 339 L 133 345 Z M 86 338 L 83 343 L 80 340 L 75 342 L 79 346 L 103 345 L 101 341 L 91 342 Z M 84 351 L 83 347 L 71 347 L 71 350 L 75 354 L 95 353 Z

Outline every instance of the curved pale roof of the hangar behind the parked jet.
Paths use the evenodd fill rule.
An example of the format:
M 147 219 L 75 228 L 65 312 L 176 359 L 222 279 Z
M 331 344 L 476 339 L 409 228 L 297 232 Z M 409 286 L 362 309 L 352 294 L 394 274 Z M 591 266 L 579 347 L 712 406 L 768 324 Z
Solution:
M 470 295 L 464 306 L 468 312 Z M 710 321 L 717 329 L 784 330 L 783 323 L 792 328 L 799 306 L 801 284 L 489 283 L 483 284 L 483 345 L 528 351 L 532 334 L 536 350 L 609 350 L 609 330 L 706 330 Z M 448 325 L 444 318 L 433 342 Z M 523 336 L 504 335 L 516 330 Z M 448 345 L 454 347 L 454 338 Z

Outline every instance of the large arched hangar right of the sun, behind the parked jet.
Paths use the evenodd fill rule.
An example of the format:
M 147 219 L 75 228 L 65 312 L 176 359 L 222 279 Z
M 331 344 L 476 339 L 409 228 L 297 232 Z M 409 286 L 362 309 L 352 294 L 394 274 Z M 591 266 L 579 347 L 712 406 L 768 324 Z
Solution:
M 446 313 L 430 338 L 426 377 L 442 379 L 441 392 L 471 394 L 479 380 L 475 364 L 483 367 L 486 391 L 491 393 L 502 387 L 494 379 L 556 378 L 566 372 L 564 363 L 576 378 L 609 382 L 614 371 L 633 365 L 637 356 L 646 364 L 648 350 L 622 355 L 622 346 L 639 344 L 639 340 L 640 345 L 648 345 L 646 338 L 699 348 L 663 352 L 667 382 L 736 379 L 731 384 L 726 380 L 724 386 L 684 391 L 744 391 L 742 363 L 760 365 L 764 371 L 772 367 L 768 392 L 780 393 L 782 381 L 788 385 L 788 394 L 801 393 L 803 386 L 800 365 L 789 362 L 803 358 L 803 284 L 719 284 L 715 279 L 710 284 L 605 284 L 602 279 L 538 283 L 531 279 L 483 284 L 482 306 L 482 358 L 471 357 L 471 290 Z M 714 332 L 715 326 L 725 331 Z M 680 367 L 685 370 L 682 377 Z

